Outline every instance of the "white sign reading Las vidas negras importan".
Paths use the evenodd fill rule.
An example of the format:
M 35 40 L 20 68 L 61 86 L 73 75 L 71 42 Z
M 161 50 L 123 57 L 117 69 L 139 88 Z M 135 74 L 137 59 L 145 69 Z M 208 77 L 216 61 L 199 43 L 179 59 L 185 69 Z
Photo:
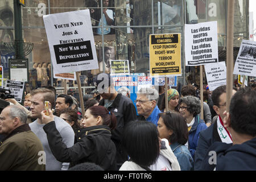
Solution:
M 218 63 L 217 22 L 185 24 L 185 65 Z

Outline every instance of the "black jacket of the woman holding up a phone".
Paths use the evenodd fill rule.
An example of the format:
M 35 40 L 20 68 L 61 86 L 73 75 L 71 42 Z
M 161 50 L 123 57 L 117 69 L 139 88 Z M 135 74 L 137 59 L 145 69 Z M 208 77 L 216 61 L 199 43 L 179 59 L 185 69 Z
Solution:
M 72 147 L 62 142 L 55 122 L 47 123 L 43 127 L 47 134 L 49 147 L 52 154 L 60 162 L 75 162 L 76 164 L 91 162 L 99 165 L 104 170 L 115 170 L 115 144 L 111 140 L 108 126 L 91 126 L 82 129 L 80 140 Z

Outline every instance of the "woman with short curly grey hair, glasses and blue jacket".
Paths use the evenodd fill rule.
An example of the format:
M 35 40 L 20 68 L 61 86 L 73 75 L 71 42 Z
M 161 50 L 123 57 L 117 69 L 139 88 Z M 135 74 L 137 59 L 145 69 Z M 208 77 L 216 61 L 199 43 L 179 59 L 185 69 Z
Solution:
M 200 131 L 207 129 L 203 119 L 199 118 L 201 112 L 200 100 L 194 96 L 180 98 L 179 112 L 185 118 L 188 126 L 188 148 L 194 159 Z

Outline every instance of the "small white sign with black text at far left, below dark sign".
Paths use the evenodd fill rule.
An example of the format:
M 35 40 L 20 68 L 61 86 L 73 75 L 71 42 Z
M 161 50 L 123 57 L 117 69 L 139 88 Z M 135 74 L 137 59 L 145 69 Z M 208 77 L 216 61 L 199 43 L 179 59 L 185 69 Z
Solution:
M 22 102 L 24 82 L 7 80 L 5 89 L 11 90 L 11 94 L 14 95 L 17 102 Z

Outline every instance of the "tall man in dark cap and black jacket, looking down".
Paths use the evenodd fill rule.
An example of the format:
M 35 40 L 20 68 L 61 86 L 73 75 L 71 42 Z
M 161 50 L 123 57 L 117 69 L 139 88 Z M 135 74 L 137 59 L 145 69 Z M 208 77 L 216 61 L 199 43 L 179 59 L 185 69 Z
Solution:
M 112 140 L 117 147 L 117 169 L 128 160 L 127 155 L 122 150 L 121 139 L 123 127 L 130 121 L 135 121 L 137 118 L 136 109 L 130 98 L 118 93 L 114 88 L 114 81 L 110 75 L 100 73 L 96 80 L 97 90 L 100 93 L 102 100 L 100 106 L 106 107 L 109 111 L 115 114 L 117 118 L 117 127 L 112 131 Z

